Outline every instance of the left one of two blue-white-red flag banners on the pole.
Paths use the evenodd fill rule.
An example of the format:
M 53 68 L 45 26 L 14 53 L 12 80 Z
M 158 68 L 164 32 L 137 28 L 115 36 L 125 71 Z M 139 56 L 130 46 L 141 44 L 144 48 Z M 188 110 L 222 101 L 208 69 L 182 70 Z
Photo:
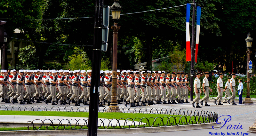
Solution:
M 191 61 L 191 50 L 190 50 L 190 36 L 189 36 L 189 18 L 190 18 L 190 4 L 187 3 L 187 21 L 186 21 L 186 61 Z

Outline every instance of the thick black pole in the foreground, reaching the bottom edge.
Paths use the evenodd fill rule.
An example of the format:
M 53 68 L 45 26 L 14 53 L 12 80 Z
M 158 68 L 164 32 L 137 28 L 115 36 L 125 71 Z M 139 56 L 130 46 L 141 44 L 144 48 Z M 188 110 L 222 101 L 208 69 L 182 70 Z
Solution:
M 98 129 L 103 3 L 103 0 L 96 0 L 95 3 L 94 37 L 92 52 L 92 84 L 90 90 L 91 93 L 87 136 L 97 136 Z

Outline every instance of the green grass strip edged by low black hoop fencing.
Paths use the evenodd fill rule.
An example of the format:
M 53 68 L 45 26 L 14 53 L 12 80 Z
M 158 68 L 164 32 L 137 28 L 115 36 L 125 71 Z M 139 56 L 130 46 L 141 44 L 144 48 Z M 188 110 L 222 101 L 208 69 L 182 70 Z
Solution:
M 26 115 L 26 116 L 69 116 L 69 117 L 88 117 L 89 114 L 87 112 L 60 112 L 60 111 L 0 111 L 0 115 Z M 173 116 L 173 117 L 171 117 Z M 167 124 L 167 126 L 170 125 L 186 125 L 187 122 L 189 122 L 189 124 L 196 124 L 196 121 L 198 120 L 198 116 L 196 116 L 196 119 L 194 116 L 190 117 L 190 116 L 182 116 L 180 119 L 181 115 L 164 115 L 164 114 L 142 114 L 142 113 L 99 113 L 99 118 L 108 118 L 108 119 L 123 119 L 123 120 L 130 120 L 132 121 L 132 119 L 134 121 L 141 121 L 143 123 L 146 123 L 147 125 L 131 125 L 131 126 L 124 126 L 124 128 L 135 128 L 135 127 L 150 127 L 153 124 L 153 127 L 157 127 L 157 126 L 164 126 Z M 168 118 L 169 121 L 168 121 Z M 186 120 L 187 119 L 187 120 Z M 176 120 L 176 122 L 175 122 Z M 200 120 L 202 120 L 202 117 L 200 117 Z M 32 121 L 32 120 L 31 120 Z M 148 125 L 148 122 L 150 124 L 150 126 Z M 180 122 L 180 123 L 179 123 Z M 200 123 L 200 122 L 199 122 Z M 203 122 L 202 122 L 203 123 Z M 113 124 L 115 125 L 115 124 Z M 118 124 L 116 124 L 118 125 Z M 123 127 L 124 124 L 120 124 L 121 128 Z M 30 125 L 28 125 L 30 126 Z M 49 126 L 49 125 L 47 125 Z M 63 125 L 64 126 L 64 125 Z M 106 126 L 106 124 L 105 124 Z M 108 124 L 107 124 L 108 126 Z M 107 126 L 104 127 L 99 127 L 99 129 L 106 129 Z M 54 126 L 55 128 L 53 128 L 52 126 L 47 128 L 48 130 L 54 130 L 57 128 L 57 126 Z M 39 129 L 39 127 L 36 127 L 37 129 Z M 74 126 L 72 126 L 72 128 L 74 128 Z M 60 126 L 58 128 L 58 130 L 68 130 L 71 129 L 70 126 L 68 127 L 62 127 Z M 75 129 L 81 129 L 81 127 L 76 127 Z M 87 129 L 86 126 L 83 126 L 82 129 Z M 108 127 L 108 129 L 113 129 L 113 126 Z M 119 126 L 115 126 L 115 129 L 120 129 Z M 18 127 L 18 128 L 0 128 L 0 131 L 13 131 L 13 130 L 28 130 L 28 127 Z M 35 128 L 29 128 L 29 130 L 36 130 Z M 40 130 L 46 130 L 46 127 L 42 127 L 40 128 Z

